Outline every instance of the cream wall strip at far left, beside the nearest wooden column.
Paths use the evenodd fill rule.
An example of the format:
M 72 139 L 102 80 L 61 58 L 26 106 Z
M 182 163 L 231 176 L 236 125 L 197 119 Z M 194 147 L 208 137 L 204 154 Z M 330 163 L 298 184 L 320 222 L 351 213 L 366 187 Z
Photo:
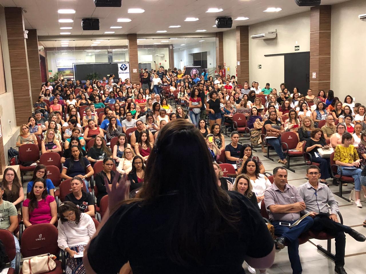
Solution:
M 19 126 L 16 126 L 15 107 L 13 98 L 13 87 L 10 70 L 10 56 L 8 46 L 8 35 L 5 23 L 4 8 L 0 5 L 0 37 L 1 49 L 3 52 L 4 72 L 7 92 L 0 95 L 0 117 L 1 117 L 1 132 L 3 134 L 3 144 L 5 160 L 8 161 L 8 149 L 10 146 L 15 146 L 16 138 L 19 134 Z M 0 64 L 3 65 L 3 64 Z M 11 121 L 9 124 L 8 121 Z

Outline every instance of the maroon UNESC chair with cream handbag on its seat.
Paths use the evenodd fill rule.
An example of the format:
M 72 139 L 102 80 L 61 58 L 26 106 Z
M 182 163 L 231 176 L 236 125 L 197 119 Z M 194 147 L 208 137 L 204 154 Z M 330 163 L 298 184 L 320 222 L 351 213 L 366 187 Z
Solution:
M 23 232 L 21 253 L 23 258 L 50 253 L 58 256 L 60 248 L 57 245 L 58 231 L 52 224 L 31 225 Z M 65 252 L 61 251 L 62 265 L 65 265 Z M 62 274 L 63 268 L 60 260 L 56 260 L 56 268 L 46 272 L 49 274 Z M 22 273 L 22 272 L 20 272 Z

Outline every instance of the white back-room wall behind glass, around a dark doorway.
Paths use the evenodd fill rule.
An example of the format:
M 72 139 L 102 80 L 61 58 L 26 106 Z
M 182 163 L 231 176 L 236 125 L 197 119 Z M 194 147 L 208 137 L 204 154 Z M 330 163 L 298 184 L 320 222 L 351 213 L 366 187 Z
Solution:
M 216 66 L 216 42 L 202 42 L 195 45 L 187 45 L 183 48 L 174 48 L 174 66 L 179 69 L 181 61 L 184 62 L 186 66 L 192 66 L 193 57 L 191 53 L 199 52 L 207 52 L 208 68 Z

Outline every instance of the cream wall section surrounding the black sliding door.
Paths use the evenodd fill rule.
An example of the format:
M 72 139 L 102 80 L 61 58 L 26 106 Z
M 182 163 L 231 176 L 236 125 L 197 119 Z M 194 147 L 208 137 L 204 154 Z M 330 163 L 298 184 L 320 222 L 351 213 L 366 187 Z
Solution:
M 276 39 L 249 38 L 250 83 L 257 81 L 261 88 L 270 83 L 278 89 L 284 82 L 284 56 L 264 57 L 265 54 L 295 52 L 295 45 L 300 46 L 300 52 L 310 51 L 310 11 L 251 25 L 249 37 L 276 29 Z M 258 65 L 262 68 L 258 69 Z

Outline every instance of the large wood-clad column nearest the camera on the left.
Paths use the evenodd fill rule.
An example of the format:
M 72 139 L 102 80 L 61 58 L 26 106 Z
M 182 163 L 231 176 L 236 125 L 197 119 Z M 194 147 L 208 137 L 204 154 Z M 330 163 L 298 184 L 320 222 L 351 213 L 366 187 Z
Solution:
M 16 125 L 20 126 L 26 123 L 28 117 L 32 114 L 32 98 L 22 8 L 5 8 L 5 21 L 8 33 Z M 38 88 L 40 87 L 38 86 Z

